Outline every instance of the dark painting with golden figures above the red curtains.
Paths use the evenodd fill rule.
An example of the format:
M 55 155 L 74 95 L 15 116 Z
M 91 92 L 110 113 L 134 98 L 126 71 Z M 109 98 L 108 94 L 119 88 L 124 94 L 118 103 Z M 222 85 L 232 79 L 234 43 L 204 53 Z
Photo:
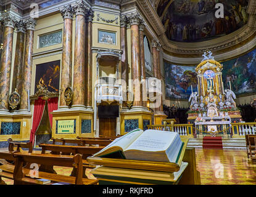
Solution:
M 36 65 L 35 92 L 38 85 L 45 87 L 49 92 L 59 92 L 60 60 Z

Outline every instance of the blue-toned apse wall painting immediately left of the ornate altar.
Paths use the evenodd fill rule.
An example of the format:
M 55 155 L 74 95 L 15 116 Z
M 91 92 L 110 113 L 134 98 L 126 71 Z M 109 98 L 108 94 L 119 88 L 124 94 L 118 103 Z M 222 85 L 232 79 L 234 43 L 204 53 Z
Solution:
M 164 62 L 165 98 L 188 99 L 197 91 L 196 66 L 180 66 Z

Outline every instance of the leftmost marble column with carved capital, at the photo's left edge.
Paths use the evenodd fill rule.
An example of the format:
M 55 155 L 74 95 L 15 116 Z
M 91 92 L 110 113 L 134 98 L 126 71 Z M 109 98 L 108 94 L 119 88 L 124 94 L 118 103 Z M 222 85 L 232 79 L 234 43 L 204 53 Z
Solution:
M 8 99 L 10 90 L 10 68 L 12 65 L 12 44 L 14 39 L 15 17 L 4 17 L 4 37 L 0 66 L 0 111 L 8 111 Z

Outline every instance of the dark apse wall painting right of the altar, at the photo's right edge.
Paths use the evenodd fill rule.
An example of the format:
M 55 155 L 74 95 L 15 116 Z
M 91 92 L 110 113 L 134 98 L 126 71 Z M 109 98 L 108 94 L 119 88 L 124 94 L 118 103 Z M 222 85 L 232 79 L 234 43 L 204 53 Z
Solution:
M 241 57 L 221 62 L 224 89 L 233 90 L 236 95 L 256 92 L 256 49 Z

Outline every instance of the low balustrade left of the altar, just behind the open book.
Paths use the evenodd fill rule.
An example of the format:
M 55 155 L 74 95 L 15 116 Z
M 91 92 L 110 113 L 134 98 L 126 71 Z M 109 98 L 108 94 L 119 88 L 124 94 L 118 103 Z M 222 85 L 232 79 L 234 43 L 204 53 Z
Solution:
M 161 131 L 177 132 L 180 136 L 194 137 L 192 131 L 193 124 L 156 124 L 148 125 L 148 129 L 155 129 Z

